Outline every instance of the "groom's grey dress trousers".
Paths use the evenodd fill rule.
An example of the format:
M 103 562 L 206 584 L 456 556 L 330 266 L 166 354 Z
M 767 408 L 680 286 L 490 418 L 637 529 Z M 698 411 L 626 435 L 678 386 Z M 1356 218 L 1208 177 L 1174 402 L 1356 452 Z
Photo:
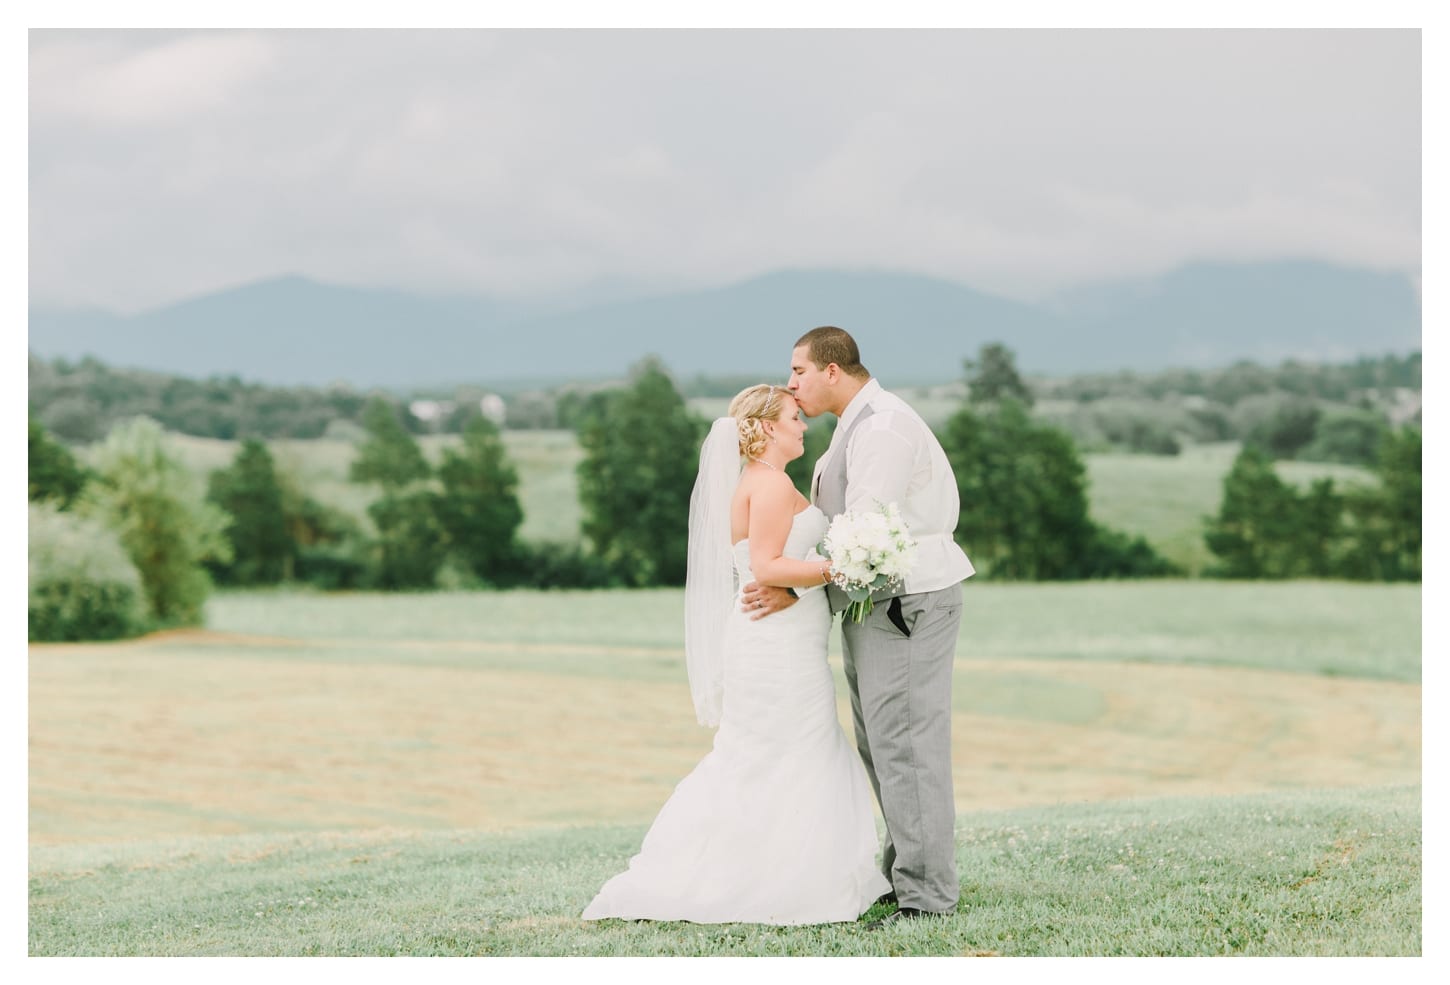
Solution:
M 960 895 L 951 794 L 951 664 L 961 585 L 900 596 L 911 635 L 876 602 L 841 619 L 856 744 L 886 818 L 882 873 L 902 907 L 947 912 Z

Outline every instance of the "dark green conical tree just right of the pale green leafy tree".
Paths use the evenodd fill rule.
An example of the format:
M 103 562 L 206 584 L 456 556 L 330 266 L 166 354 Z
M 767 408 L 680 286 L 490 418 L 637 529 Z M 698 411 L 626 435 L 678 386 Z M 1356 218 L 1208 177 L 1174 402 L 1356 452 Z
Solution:
M 242 442 L 232 464 L 207 480 L 207 499 L 229 516 L 232 563 L 220 573 L 239 585 L 274 585 L 291 577 L 297 541 L 287 525 L 283 487 L 267 445 Z

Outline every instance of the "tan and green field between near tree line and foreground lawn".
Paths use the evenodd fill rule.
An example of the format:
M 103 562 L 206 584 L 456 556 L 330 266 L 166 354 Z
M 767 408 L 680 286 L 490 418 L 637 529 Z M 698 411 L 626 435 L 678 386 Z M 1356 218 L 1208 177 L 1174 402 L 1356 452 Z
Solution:
M 1418 614 L 1418 586 L 969 583 L 958 805 L 1417 783 Z M 209 622 L 30 647 L 32 843 L 637 823 L 710 743 L 679 592 L 222 595 Z

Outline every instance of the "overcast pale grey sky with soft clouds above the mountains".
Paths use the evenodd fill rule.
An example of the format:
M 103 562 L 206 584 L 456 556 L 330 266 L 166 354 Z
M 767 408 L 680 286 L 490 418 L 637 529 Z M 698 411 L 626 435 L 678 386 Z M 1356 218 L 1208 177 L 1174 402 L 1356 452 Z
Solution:
M 277 274 L 529 296 L 784 267 L 1035 297 L 1420 276 L 1415 30 L 29 38 L 30 303 Z

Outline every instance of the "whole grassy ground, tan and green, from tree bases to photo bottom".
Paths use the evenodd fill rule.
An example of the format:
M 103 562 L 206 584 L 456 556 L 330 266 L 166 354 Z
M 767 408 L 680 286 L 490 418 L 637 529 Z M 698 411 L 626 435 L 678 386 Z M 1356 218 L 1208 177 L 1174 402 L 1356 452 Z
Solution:
M 255 592 L 30 647 L 30 952 L 1418 953 L 1418 586 L 966 606 L 929 933 L 577 920 L 709 749 L 677 590 Z

